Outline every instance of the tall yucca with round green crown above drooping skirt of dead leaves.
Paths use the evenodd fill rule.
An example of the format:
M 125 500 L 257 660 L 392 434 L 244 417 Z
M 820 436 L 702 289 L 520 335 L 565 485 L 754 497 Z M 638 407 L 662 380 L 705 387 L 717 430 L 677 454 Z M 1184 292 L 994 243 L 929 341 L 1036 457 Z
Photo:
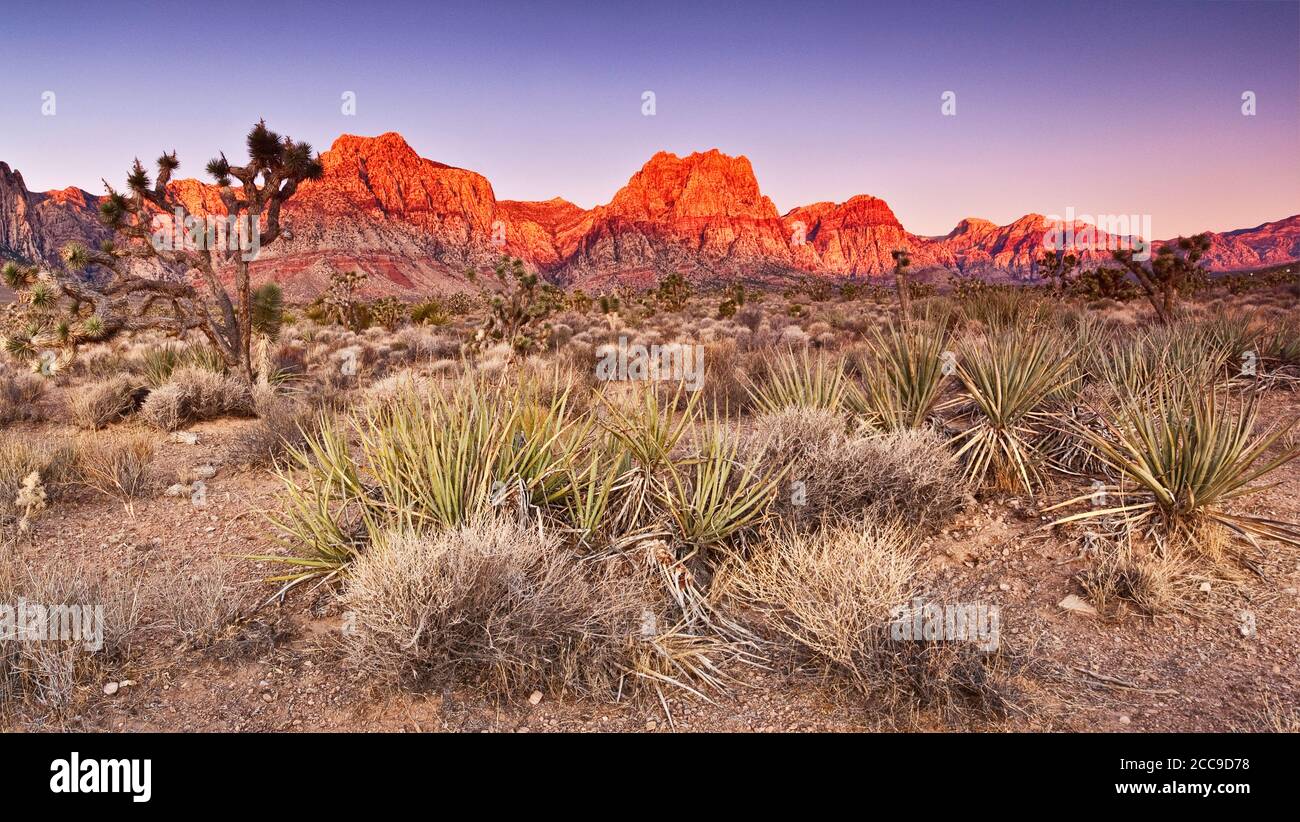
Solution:
M 1024 330 L 961 347 L 957 376 L 971 423 L 953 442 L 967 477 L 1001 490 L 1040 485 L 1037 438 L 1052 416 L 1045 403 L 1078 380 L 1074 359 L 1060 341 Z

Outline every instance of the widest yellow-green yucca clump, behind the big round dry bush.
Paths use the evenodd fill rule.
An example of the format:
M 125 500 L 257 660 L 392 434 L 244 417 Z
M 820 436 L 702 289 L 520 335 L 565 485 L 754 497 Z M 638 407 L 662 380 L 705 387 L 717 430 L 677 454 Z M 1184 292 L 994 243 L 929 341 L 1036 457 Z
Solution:
M 507 493 L 533 505 L 559 502 L 577 425 L 564 398 L 540 404 L 534 389 L 517 384 L 473 378 L 445 393 L 407 393 L 346 427 L 326 421 L 292 449 L 296 471 L 280 472 L 285 493 L 270 519 L 307 554 L 292 561 L 299 577 L 337 574 L 390 527 L 454 528 Z M 356 457 L 347 428 L 359 441 Z

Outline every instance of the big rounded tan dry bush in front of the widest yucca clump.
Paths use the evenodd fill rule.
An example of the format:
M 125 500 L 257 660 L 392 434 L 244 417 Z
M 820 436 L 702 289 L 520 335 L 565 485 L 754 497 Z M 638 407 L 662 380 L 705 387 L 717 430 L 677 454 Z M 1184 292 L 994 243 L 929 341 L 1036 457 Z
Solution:
M 646 610 L 618 559 L 578 562 L 552 535 L 478 520 L 391 533 L 352 564 L 344 643 L 358 670 L 393 683 L 476 683 L 611 695 Z

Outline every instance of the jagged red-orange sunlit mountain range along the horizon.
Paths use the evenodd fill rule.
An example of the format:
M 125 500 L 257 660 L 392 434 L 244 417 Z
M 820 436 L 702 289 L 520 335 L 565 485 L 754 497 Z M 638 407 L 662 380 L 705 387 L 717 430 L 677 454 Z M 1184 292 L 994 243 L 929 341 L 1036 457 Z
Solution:
M 420 157 L 391 131 L 344 134 L 321 160 L 325 176 L 285 207 L 292 237 L 268 246 L 254 264 L 259 280 L 274 278 L 298 298 L 324 289 L 332 272 L 354 268 L 369 276 L 370 294 L 464 290 L 467 268 L 490 265 L 502 254 L 554 282 L 586 289 L 645 285 L 673 271 L 697 282 L 868 278 L 892 271 L 894 248 L 911 252 L 915 271 L 1031 278 L 1052 228 L 1043 215 L 1010 225 L 971 217 L 944 237 L 919 237 L 870 195 L 780 215 L 749 160 L 716 150 L 686 157 L 659 152 L 612 200 L 592 209 L 560 198 L 498 200 L 482 174 Z M 211 183 L 173 186 L 191 211 L 221 211 Z M 75 187 L 29 191 L 22 176 L 0 163 L 0 255 L 53 265 L 68 241 L 98 243 L 109 235 L 96 216 L 99 199 Z M 1097 245 L 1106 237 L 1098 233 Z M 1212 271 L 1288 263 L 1300 259 L 1300 215 L 1210 239 Z M 1101 261 L 1109 252 L 1083 256 Z

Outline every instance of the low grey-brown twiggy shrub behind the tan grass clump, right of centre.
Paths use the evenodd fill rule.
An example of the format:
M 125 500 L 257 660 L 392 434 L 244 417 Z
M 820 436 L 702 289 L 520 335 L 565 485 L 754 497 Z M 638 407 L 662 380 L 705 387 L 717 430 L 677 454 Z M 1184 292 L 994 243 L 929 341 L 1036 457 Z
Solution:
M 846 434 L 844 427 L 838 415 L 810 408 L 754 420 L 750 450 L 764 466 L 789 466 L 780 515 L 814 525 L 874 507 L 933 527 L 965 506 L 968 485 L 940 434 Z

